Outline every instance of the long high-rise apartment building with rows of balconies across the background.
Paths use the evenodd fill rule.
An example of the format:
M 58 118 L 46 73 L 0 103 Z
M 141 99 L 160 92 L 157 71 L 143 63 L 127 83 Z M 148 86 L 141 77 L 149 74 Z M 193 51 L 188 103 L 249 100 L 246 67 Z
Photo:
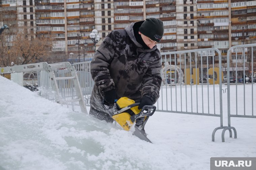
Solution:
M 56 39 L 59 57 L 92 57 L 97 29 L 100 42 L 114 29 L 147 17 L 164 23 L 161 52 L 218 48 L 224 60 L 229 47 L 256 43 L 256 0 L 2 0 L 6 18 L 27 25 L 35 36 Z M 8 37 L 11 42 L 11 36 Z M 87 46 L 85 46 L 85 44 Z M 203 54 L 203 61 L 206 62 Z M 242 55 L 239 55 L 242 57 Z M 83 60 L 82 60 L 83 61 Z M 184 61 L 178 61 L 184 63 Z M 209 61 L 210 63 L 213 61 Z

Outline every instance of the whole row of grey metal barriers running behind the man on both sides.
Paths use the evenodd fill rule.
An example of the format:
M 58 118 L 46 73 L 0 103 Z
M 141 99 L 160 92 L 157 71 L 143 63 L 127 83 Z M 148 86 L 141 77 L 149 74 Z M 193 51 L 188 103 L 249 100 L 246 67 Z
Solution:
M 157 111 L 220 117 L 220 126 L 213 130 L 212 141 L 214 141 L 215 133 L 218 129 L 223 129 L 223 142 L 225 141 L 224 133 L 226 130 L 229 130 L 229 136 L 232 137 L 231 129 L 233 129 L 234 137 L 236 138 L 236 129 L 231 127 L 230 118 L 256 118 L 253 98 L 256 95 L 254 90 L 256 88 L 256 77 L 253 74 L 254 70 L 256 74 L 256 66 L 253 65 L 253 62 L 256 61 L 254 51 L 256 51 L 256 44 L 234 46 L 228 50 L 227 61 L 232 62 L 230 62 L 231 67 L 229 62 L 224 63 L 224 66 L 227 66 L 224 70 L 227 73 L 226 89 L 222 89 L 223 65 L 221 53 L 218 49 L 209 48 L 161 53 L 164 67 L 161 70 L 163 81 L 160 97 L 155 104 Z M 252 83 L 243 83 L 243 80 L 242 83 L 239 83 L 241 74 L 242 77 L 240 78 L 246 79 L 245 73 L 249 71 L 247 70 L 248 63 L 251 63 L 251 65 L 249 64 L 249 70 L 252 71 L 252 74 L 248 76 L 250 76 Z M 40 63 L 34 65 L 38 64 Z M 74 105 L 79 105 L 78 100 L 75 98 L 79 94 L 77 94 L 75 84 L 70 78 L 74 76 L 71 74 L 70 69 L 72 71 L 72 68 L 74 68 L 85 104 L 90 106 L 90 97 L 94 86 L 90 73 L 91 61 L 74 63 L 72 68 L 71 66 L 63 65 L 63 63 L 61 64 L 51 64 L 45 70 L 35 70 L 36 73 L 33 72 L 34 78 L 31 77 L 31 74 L 26 74 L 26 81 L 29 82 L 31 81 L 30 78 L 32 78 L 33 84 L 35 84 L 35 80 L 37 80 L 36 85 L 40 95 L 55 101 L 56 93 L 52 91 L 53 83 L 51 77 L 49 78 L 49 70 L 52 70 L 54 73 L 52 75 L 57 77 L 55 84 L 57 84 L 56 88 L 61 96 L 61 101 L 69 101 L 63 104 L 72 105 L 74 108 Z M 33 64 L 26 65 L 28 68 L 31 66 Z M 52 68 L 50 69 L 50 67 Z M 239 67 L 243 68 L 240 68 L 242 72 L 239 72 Z M 29 70 L 33 71 L 32 67 Z M 26 71 L 28 70 L 24 72 Z M 230 76 L 230 73 L 232 76 Z M 232 77 L 235 82 L 231 84 Z M 243 86 L 243 93 L 237 91 L 239 86 Z M 222 92 L 224 93 L 226 90 L 228 126 L 223 126 Z M 247 100 L 248 96 L 250 97 Z M 231 103 L 235 105 L 231 106 Z

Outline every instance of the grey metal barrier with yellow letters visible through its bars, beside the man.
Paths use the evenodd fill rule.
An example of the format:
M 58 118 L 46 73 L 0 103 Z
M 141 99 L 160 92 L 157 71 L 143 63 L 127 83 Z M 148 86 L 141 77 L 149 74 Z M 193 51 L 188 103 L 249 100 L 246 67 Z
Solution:
M 162 62 L 169 62 L 174 67 L 162 71 L 162 79 L 165 83 L 155 104 L 157 110 L 220 117 L 220 127 L 215 128 L 212 133 L 212 141 L 214 141 L 215 132 L 226 127 L 223 126 L 223 73 L 220 51 L 209 48 L 167 52 L 161 55 Z M 218 60 L 218 63 L 215 63 L 215 60 Z M 182 77 L 179 77 L 180 69 L 184 70 L 183 81 L 181 81 Z M 169 74 L 165 73 L 166 71 Z

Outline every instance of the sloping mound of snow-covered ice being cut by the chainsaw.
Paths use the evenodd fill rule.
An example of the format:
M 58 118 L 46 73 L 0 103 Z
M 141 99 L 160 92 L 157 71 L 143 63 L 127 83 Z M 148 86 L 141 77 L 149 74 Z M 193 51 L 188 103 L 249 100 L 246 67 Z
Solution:
M 160 129 L 168 125 L 155 128 L 157 119 L 149 123 L 151 132 L 146 128 L 155 143 L 150 144 L 2 76 L 0 95 L 0 169 L 203 169 L 200 162 L 173 151 L 170 136 L 156 137 L 169 130 Z

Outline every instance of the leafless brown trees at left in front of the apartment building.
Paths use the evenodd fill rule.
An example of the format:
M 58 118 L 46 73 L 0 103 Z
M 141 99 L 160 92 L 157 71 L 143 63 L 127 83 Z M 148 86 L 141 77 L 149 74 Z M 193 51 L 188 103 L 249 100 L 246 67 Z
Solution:
M 23 24 L 11 9 L 0 11 L 0 24 L 9 26 L 0 36 L 0 67 L 10 66 L 11 62 L 20 65 L 48 61 L 54 41 L 51 34 L 36 37 L 32 27 L 20 26 Z

